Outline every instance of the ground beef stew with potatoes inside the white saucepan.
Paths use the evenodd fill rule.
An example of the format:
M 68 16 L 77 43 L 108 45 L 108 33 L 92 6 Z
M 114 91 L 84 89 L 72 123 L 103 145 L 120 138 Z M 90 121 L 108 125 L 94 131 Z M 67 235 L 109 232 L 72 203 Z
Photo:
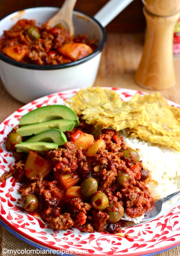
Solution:
M 37 26 L 35 20 L 22 19 L 4 31 L 0 38 L 0 52 L 23 63 L 57 65 L 89 55 L 97 48 L 96 42 L 97 39 L 89 39 L 87 34 L 72 38 L 61 24 L 51 28 L 46 24 Z M 66 49 L 62 50 L 64 45 Z M 71 54 L 73 47 L 76 47 L 76 54 Z

